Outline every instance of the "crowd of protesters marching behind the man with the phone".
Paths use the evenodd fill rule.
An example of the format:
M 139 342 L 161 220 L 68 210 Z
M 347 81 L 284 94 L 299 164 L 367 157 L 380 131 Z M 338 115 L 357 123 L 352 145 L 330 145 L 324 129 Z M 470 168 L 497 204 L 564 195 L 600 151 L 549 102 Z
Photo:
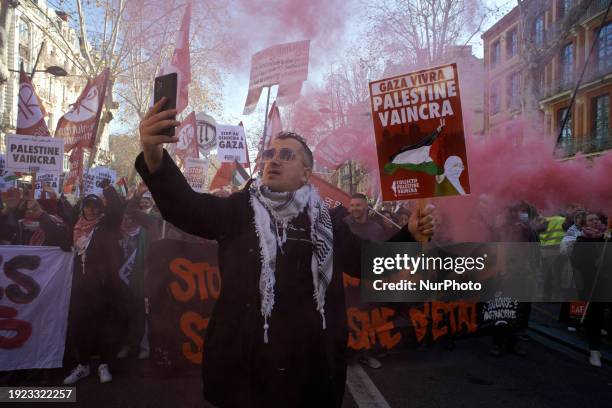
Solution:
M 224 190 L 217 195 L 227 196 Z M 69 312 L 65 361 L 76 366 L 65 378 L 74 384 L 90 375 L 92 356 L 99 356 L 98 375 L 102 383 L 112 380 L 109 363 L 132 354 L 149 358 L 148 324 L 145 315 L 145 279 L 147 254 L 152 242 L 162 237 L 162 218 L 144 184 L 132 188 L 127 197 L 105 183 L 101 196 L 88 195 L 71 204 L 62 194 L 57 196 L 43 185 L 40 198 L 25 188 L 13 188 L 1 195 L 0 245 L 57 246 L 74 251 L 74 274 Z M 402 203 L 372 205 L 363 194 L 354 194 L 344 209 L 343 221 L 361 239 L 387 241 L 409 219 L 413 208 Z M 603 214 L 568 206 L 559 215 L 541 216 L 525 202 L 509 206 L 503 226 L 495 225 L 495 240 L 504 242 L 539 242 L 541 282 L 550 295 L 561 286 L 561 270 L 571 264 L 581 279 L 581 298 L 588 299 L 594 286 L 593 271 L 599 253 L 593 242 L 609 239 L 607 219 Z M 503 228 L 500 228 L 503 227 Z M 500 235 L 503 231 L 503 236 Z M 174 235 L 173 235 L 174 234 Z M 176 229 L 167 229 L 166 237 L 193 240 Z M 595 251 L 595 252 L 594 252 Z M 125 271 L 129 270 L 129 276 Z M 591 278 L 588 278 L 588 277 Z M 585 312 L 584 326 L 590 353 L 590 364 L 601 366 L 601 338 L 606 335 L 605 310 L 609 304 L 592 302 Z M 569 306 L 561 307 L 560 321 L 569 323 Z M 527 354 L 524 340 L 531 313 L 530 303 L 520 304 L 520 321 L 511 327 L 500 326 L 493 333 L 491 354 L 504 351 Z M 445 341 L 454 348 L 452 336 Z M 356 359 L 371 368 L 381 367 L 377 358 L 381 350 L 358 353 Z

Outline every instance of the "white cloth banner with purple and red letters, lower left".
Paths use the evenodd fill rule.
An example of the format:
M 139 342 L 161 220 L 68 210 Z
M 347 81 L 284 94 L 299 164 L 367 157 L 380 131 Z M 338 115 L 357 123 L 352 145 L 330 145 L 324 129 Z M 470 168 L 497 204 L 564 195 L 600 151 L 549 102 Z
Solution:
M 74 254 L 0 246 L 0 371 L 62 366 Z

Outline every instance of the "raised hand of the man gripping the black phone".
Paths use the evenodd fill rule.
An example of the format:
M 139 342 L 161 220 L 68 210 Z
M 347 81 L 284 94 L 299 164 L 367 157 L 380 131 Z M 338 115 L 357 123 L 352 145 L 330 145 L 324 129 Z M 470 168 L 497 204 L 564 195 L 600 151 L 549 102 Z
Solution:
M 166 97 L 157 101 L 149 109 L 139 126 L 140 143 L 150 173 L 154 173 L 161 166 L 164 152 L 163 144 L 178 142 L 178 137 L 165 134 L 168 128 L 181 124 L 175 119 L 176 109 L 162 110 L 166 101 Z

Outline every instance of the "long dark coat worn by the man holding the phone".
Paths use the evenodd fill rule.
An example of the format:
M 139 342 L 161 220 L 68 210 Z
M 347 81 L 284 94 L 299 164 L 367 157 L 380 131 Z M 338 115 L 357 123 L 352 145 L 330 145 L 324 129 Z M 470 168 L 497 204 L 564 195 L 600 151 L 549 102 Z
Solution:
M 261 255 L 248 190 L 227 198 L 194 192 L 170 156 L 150 174 L 136 169 L 163 217 L 217 240 L 222 286 L 208 323 L 202 372 L 205 399 L 219 407 L 339 407 L 346 379 L 347 322 L 342 272 L 360 273 L 361 241 L 332 213 L 334 273 L 326 292 L 327 329 L 313 299 L 310 221 L 291 223 L 276 259 L 269 342 L 263 342 Z

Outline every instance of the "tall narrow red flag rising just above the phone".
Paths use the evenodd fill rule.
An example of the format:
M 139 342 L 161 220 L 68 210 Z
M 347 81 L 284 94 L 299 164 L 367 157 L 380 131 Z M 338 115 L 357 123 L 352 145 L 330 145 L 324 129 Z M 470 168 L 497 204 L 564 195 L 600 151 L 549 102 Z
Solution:
M 183 20 L 181 21 L 181 28 L 176 34 L 176 44 L 172 54 L 172 67 L 168 70 L 168 72 L 176 72 L 178 74 L 178 95 L 176 98 L 176 110 L 178 113 L 181 113 L 189 103 L 188 89 L 191 82 L 191 59 L 189 56 L 190 22 L 191 2 L 188 2 L 185 14 L 183 14 Z

